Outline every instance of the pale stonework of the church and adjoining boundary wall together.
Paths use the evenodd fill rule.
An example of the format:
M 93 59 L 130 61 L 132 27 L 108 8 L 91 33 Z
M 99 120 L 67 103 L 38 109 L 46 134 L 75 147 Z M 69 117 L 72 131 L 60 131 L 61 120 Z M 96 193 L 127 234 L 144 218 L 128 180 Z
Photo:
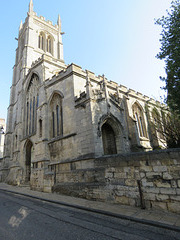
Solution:
M 179 153 L 148 152 L 166 148 L 157 131 L 165 106 L 66 65 L 62 36 L 60 16 L 53 25 L 30 0 L 19 27 L 1 181 L 179 211 Z

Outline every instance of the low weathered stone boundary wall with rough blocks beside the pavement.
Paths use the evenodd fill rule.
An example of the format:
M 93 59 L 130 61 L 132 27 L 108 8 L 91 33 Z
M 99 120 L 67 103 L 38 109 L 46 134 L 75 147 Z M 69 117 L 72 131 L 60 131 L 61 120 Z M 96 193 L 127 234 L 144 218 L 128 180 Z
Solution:
M 54 170 L 53 191 L 180 213 L 180 149 L 74 160 Z

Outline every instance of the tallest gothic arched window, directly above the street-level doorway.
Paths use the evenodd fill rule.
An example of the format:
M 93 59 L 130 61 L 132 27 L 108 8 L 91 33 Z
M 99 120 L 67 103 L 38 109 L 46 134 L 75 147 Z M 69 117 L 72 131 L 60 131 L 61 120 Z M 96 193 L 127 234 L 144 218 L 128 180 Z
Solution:
M 25 135 L 31 135 L 36 132 L 37 102 L 38 102 L 39 79 L 33 74 L 26 92 L 25 103 Z

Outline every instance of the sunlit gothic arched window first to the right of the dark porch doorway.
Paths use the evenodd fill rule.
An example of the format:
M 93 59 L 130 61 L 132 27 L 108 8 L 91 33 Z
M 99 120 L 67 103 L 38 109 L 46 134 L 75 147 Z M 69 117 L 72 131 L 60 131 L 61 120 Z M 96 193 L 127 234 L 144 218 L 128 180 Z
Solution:
M 133 110 L 133 117 L 136 120 L 136 127 L 137 127 L 137 130 L 138 130 L 139 136 L 140 137 L 147 137 L 143 110 L 141 109 L 141 107 L 137 103 L 134 103 L 134 105 L 132 107 L 132 110 Z

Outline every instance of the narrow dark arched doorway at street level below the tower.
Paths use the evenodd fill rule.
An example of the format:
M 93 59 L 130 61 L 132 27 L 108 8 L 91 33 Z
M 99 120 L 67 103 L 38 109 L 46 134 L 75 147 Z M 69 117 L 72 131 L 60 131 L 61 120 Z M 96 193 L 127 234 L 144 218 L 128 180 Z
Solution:
M 33 144 L 29 140 L 26 144 L 26 182 L 29 182 L 31 177 L 32 151 L 33 151 Z

